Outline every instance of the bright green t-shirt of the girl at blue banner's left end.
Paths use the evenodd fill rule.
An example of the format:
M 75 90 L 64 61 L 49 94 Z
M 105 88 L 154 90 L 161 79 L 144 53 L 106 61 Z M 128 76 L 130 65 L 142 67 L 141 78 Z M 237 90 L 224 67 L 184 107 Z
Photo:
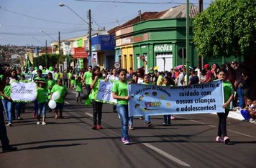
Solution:
M 127 97 L 128 96 L 128 84 L 127 82 L 116 81 L 113 84 L 112 92 L 115 92 L 119 97 Z M 117 104 L 128 104 L 128 100 L 126 99 L 117 99 Z

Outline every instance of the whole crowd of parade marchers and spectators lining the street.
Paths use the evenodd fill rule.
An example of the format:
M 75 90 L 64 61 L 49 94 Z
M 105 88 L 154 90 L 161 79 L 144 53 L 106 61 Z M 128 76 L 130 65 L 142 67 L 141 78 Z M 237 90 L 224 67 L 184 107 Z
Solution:
M 226 120 L 229 110 L 241 110 L 244 117 L 244 122 L 256 124 L 256 100 L 250 98 L 250 79 L 247 69 L 237 61 L 232 61 L 230 64 L 204 64 L 204 69 L 189 68 L 189 74 L 186 74 L 186 67 L 180 66 L 170 71 L 158 71 L 157 67 L 152 67 L 149 71 L 145 71 L 142 66 L 135 71 L 127 69 L 101 69 L 99 66 L 88 66 L 86 69 L 44 69 L 42 66 L 38 69 L 31 69 L 31 81 L 37 84 L 37 99 L 34 103 L 33 116 L 35 124 L 46 125 L 47 104 L 52 99 L 52 94 L 58 92 L 60 97 L 55 100 L 56 107 L 50 109 L 54 112 L 55 119 L 63 118 L 63 109 L 65 97 L 68 95 L 68 90 L 76 91 L 76 103 L 83 103 L 83 99 L 90 101 L 93 109 L 93 124 L 92 129 L 103 129 L 101 124 L 102 106 L 103 103 L 97 101 L 96 97 L 99 89 L 99 81 L 114 82 L 112 88 L 112 96 L 117 100 L 117 104 L 113 105 L 113 112 L 118 112 L 122 124 L 121 140 L 124 144 L 129 144 L 128 130 L 134 130 L 133 117 L 128 114 L 128 84 L 150 84 L 166 87 L 184 86 L 186 84 L 202 84 L 214 80 L 224 81 L 224 104 L 225 113 L 218 113 L 219 127 L 216 137 L 216 142 L 229 143 L 227 137 Z M 187 77 L 189 81 L 186 81 Z M 13 81 L 29 82 L 26 79 L 24 69 L 12 69 L 8 65 L 1 68 L 0 73 L 1 83 L 1 109 L 4 109 L 6 114 L 6 126 L 12 127 L 13 120 L 22 120 L 22 113 L 26 112 L 26 102 L 13 102 L 11 98 L 11 83 Z M 86 90 L 86 91 L 83 91 Z M 86 96 L 85 96 L 86 95 Z M 86 97 L 86 98 L 85 98 Z M 3 113 L 3 110 L 1 110 Z M 2 114 L 1 114 L 2 115 Z M 42 117 L 42 119 L 41 119 Z M 141 116 L 144 119 L 145 126 L 151 127 L 150 116 Z M 172 115 L 163 116 L 163 126 L 171 125 L 171 120 L 175 119 Z M 4 118 L 0 118 L 1 122 L 1 143 L 3 152 L 16 150 L 17 148 L 9 146 L 9 140 L 6 137 L 6 129 Z M 42 121 L 41 121 L 42 120 Z

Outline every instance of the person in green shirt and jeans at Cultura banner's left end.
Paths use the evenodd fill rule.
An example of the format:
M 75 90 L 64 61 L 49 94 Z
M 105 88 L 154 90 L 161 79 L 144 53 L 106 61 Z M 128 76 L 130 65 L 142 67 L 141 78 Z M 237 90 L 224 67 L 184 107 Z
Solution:
M 4 111 L 6 112 L 6 119 L 8 121 L 8 124 L 6 126 L 11 127 L 12 126 L 12 107 L 13 102 L 11 98 L 11 84 L 10 79 L 6 78 L 6 85 L 4 87 L 4 92 L 0 92 L 1 94 L 1 102 L 4 107 Z

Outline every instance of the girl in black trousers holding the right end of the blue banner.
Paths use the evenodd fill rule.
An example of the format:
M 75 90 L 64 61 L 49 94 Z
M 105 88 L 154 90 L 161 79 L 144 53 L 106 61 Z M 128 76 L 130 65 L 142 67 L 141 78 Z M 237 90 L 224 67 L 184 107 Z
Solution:
M 217 72 L 218 79 L 223 81 L 224 87 L 224 104 L 222 105 L 225 108 L 224 113 L 217 113 L 219 117 L 219 126 L 218 126 L 218 135 L 216 137 L 216 142 L 224 142 L 229 144 L 229 137 L 227 137 L 227 116 L 229 115 L 230 102 L 234 99 L 234 89 L 232 84 L 226 80 L 226 71 L 225 69 L 219 69 Z

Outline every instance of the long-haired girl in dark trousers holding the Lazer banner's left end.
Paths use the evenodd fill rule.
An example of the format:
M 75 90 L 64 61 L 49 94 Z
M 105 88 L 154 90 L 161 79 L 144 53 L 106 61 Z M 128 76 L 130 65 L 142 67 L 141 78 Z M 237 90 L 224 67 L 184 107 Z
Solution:
M 102 102 L 96 101 L 99 89 L 99 81 L 101 79 L 103 80 L 104 78 L 101 74 L 100 67 L 94 66 L 92 76 L 89 81 L 89 84 L 91 84 L 91 104 L 93 105 L 93 127 L 91 127 L 91 129 L 103 129 L 101 127 Z

